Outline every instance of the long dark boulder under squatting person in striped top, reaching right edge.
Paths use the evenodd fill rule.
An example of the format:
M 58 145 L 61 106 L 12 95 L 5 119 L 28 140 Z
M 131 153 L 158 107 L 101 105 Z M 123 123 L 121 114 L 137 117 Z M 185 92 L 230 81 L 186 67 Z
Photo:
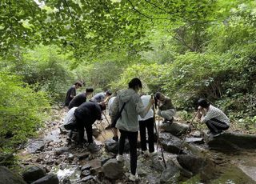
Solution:
M 214 150 L 233 151 L 242 149 L 256 149 L 256 135 L 225 132 L 213 138 L 204 134 L 208 146 Z

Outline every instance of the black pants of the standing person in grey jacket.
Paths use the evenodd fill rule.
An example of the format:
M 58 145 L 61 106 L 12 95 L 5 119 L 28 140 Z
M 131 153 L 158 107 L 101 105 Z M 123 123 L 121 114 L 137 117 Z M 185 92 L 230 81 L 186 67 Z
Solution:
M 121 135 L 119 139 L 119 148 L 118 154 L 123 154 L 125 148 L 126 138 L 129 140 L 130 146 L 130 173 L 136 174 L 137 168 L 137 141 L 138 141 L 138 132 L 130 132 L 126 130 L 119 130 Z

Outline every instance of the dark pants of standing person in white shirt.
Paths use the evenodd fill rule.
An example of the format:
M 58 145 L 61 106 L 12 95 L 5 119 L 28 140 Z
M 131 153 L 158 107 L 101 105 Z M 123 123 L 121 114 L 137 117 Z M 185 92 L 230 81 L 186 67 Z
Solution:
M 154 118 L 139 121 L 139 134 L 141 136 L 142 150 L 146 149 L 146 129 L 150 153 L 154 152 Z

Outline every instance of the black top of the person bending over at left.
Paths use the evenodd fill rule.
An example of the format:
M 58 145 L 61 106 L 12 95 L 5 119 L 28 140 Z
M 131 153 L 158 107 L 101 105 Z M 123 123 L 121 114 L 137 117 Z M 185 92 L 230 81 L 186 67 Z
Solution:
M 83 102 L 81 106 L 74 110 L 74 116 L 82 120 L 78 122 L 92 125 L 97 119 L 102 118 L 101 107 L 96 102 Z

